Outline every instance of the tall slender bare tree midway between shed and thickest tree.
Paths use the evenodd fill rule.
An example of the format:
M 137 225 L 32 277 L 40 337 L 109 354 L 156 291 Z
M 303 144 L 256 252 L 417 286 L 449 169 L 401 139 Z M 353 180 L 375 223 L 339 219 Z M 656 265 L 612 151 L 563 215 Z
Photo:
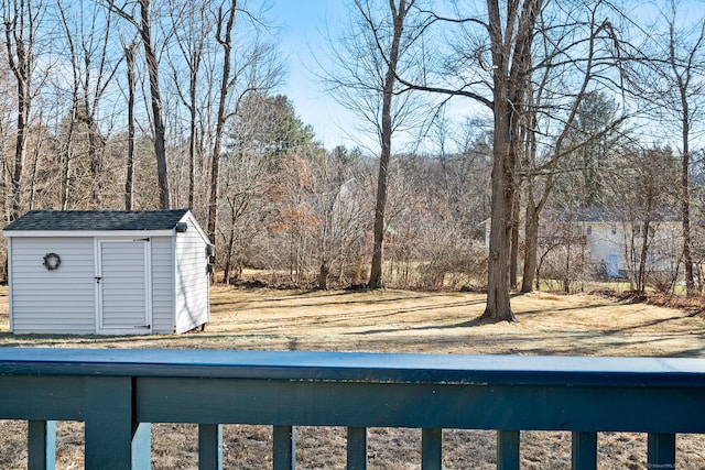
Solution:
M 387 3 L 386 7 L 381 7 Z M 417 25 L 408 23 L 408 14 L 416 0 L 376 2 L 356 0 L 348 31 L 332 43 L 333 70 L 323 73 L 329 94 L 343 106 L 354 110 L 372 129 L 380 143 L 377 178 L 373 250 L 369 276 L 371 288 L 383 287 L 383 244 L 387 230 L 389 164 L 394 132 L 420 121 L 420 101 L 411 94 L 400 94 L 397 76 L 402 74 L 402 57 L 417 36 Z M 416 97 L 417 98 L 417 97 Z

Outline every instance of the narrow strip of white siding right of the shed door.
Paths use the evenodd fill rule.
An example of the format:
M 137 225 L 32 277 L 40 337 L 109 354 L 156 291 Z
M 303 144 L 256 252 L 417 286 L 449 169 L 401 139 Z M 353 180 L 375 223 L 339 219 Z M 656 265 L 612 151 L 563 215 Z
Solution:
M 152 238 L 152 331 L 174 332 L 174 247 L 172 237 Z

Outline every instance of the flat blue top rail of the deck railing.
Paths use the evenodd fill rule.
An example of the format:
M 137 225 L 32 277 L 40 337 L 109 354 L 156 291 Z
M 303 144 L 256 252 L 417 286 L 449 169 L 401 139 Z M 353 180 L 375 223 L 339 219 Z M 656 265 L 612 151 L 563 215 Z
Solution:
M 705 359 L 0 348 L 0 375 L 705 386 Z

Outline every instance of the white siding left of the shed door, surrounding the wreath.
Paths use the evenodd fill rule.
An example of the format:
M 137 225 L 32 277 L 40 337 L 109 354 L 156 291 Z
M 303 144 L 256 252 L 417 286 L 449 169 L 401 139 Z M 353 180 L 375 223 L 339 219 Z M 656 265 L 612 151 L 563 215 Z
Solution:
M 47 271 L 44 255 L 61 266 Z M 96 280 L 91 239 L 15 238 L 11 243 L 12 331 L 96 332 Z

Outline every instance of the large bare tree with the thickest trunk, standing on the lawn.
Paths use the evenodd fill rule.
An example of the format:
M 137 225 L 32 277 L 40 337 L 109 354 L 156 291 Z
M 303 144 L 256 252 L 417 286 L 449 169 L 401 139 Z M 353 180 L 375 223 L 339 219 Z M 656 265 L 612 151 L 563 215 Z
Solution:
M 460 8 L 465 10 L 460 11 Z M 585 39 L 566 34 L 553 37 L 553 32 L 570 33 L 571 28 L 576 24 L 577 12 L 585 12 L 585 23 L 588 23 L 588 30 L 595 36 L 593 40 L 600 33 L 609 36 L 614 31 L 608 21 L 597 20 L 597 8 L 592 3 L 575 2 L 564 8 L 563 4 L 542 0 L 488 0 L 486 11 L 473 10 L 479 6 L 458 4 L 458 11 L 454 15 L 442 15 L 437 11 L 422 12 L 429 19 L 426 31 L 440 24 L 446 30 L 452 30 L 446 31 L 444 37 L 458 39 L 454 40 L 449 50 L 446 48 L 447 57 L 442 62 L 444 66 L 426 70 L 425 81 L 413 83 L 405 78 L 400 78 L 400 81 L 419 90 L 469 98 L 491 111 L 492 196 L 488 297 L 482 318 L 511 321 L 514 319 L 509 297 L 511 236 L 518 220 L 514 215 L 518 208 L 516 201 L 525 152 L 531 150 L 531 140 L 536 131 L 536 118 L 532 117 L 532 108 L 536 109 L 539 105 L 534 101 L 533 94 L 541 87 L 540 83 L 534 84 L 532 80 L 541 80 L 541 74 L 536 70 L 542 67 L 551 65 L 557 67 L 556 69 L 565 69 L 574 64 L 574 67 L 581 70 L 578 76 L 587 79 L 555 80 L 550 83 L 551 88 L 547 92 L 553 97 L 564 96 L 566 88 L 571 87 L 568 89 L 574 90 L 573 99 L 575 96 L 579 97 L 587 90 L 586 84 L 592 78 L 589 67 L 593 59 L 593 36 Z M 572 14 L 571 9 L 576 13 Z M 541 43 L 544 45 L 543 51 L 536 51 L 536 45 Z M 565 47 L 575 50 L 575 55 L 566 57 Z M 600 63 L 599 68 L 604 69 L 605 64 Z M 612 77 L 605 77 L 605 80 L 610 81 Z M 618 85 L 618 81 L 611 81 L 610 85 Z M 564 119 L 570 119 L 570 106 L 567 110 Z M 555 135 L 555 128 L 549 130 L 551 135 Z M 554 152 L 555 155 L 564 153 L 565 149 Z

